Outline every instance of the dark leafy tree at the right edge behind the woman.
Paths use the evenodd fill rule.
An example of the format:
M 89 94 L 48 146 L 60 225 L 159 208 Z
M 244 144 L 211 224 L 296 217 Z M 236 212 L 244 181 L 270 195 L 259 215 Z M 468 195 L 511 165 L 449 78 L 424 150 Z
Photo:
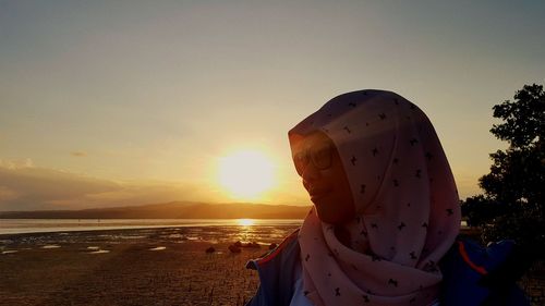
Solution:
M 462 211 L 481 225 L 485 242 L 513 238 L 521 244 L 545 244 L 545 93 L 542 85 L 524 85 L 513 97 L 494 106 L 502 120 L 491 132 L 509 143 L 491 154 L 491 173 L 480 179 L 484 195 L 468 198 Z

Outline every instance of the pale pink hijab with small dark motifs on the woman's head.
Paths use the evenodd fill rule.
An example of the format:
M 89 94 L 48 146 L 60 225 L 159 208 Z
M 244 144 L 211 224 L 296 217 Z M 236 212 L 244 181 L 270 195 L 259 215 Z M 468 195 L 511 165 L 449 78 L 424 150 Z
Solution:
M 427 117 L 384 90 L 340 95 L 289 132 L 320 131 L 335 144 L 350 183 L 350 245 L 315 208 L 299 234 L 304 292 L 315 305 L 429 305 L 437 262 L 453 244 L 460 207 L 447 158 Z

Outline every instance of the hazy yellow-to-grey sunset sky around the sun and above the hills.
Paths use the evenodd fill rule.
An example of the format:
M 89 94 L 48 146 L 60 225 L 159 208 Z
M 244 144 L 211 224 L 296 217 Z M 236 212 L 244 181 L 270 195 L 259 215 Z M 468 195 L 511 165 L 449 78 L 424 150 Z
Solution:
M 506 148 L 492 107 L 545 83 L 543 16 L 543 1 L 0 0 L 0 210 L 310 205 L 287 132 L 366 88 L 424 110 L 461 198 L 479 194 Z M 218 179 L 244 150 L 272 169 L 253 198 Z

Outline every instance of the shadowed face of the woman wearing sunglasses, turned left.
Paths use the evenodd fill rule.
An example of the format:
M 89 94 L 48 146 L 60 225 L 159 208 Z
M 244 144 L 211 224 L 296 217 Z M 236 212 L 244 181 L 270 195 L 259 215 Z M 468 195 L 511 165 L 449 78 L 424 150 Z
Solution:
M 355 215 L 354 199 L 331 139 L 315 132 L 299 142 L 292 155 L 318 218 L 332 224 L 350 221 Z

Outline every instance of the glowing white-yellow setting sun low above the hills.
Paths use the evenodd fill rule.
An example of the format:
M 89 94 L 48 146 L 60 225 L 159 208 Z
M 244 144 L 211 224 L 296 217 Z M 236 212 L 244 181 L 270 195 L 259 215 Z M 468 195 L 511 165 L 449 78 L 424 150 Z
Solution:
M 275 184 L 274 164 L 257 150 L 239 150 L 219 159 L 218 180 L 237 199 L 257 199 Z

